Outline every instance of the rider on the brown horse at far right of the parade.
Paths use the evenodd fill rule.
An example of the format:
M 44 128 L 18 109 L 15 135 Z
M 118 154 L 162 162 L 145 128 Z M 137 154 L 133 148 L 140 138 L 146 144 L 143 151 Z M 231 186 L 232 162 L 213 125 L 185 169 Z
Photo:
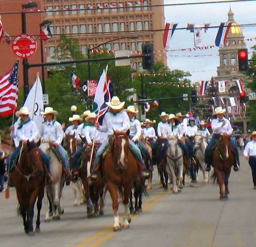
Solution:
M 224 117 L 224 112 L 226 110 L 222 109 L 222 107 L 217 107 L 215 112 L 213 113 L 216 116 L 211 122 L 211 128 L 213 129 L 213 138 L 209 142 L 208 146 L 205 150 L 205 163 L 206 163 L 206 171 L 211 171 L 212 165 L 212 153 L 214 149 L 214 145 L 216 141 L 220 139 L 220 134 L 224 135 L 232 135 L 233 128 L 231 127 L 230 121 Z M 234 164 L 234 171 L 239 170 L 239 153 L 238 148 L 236 147 L 235 140 L 230 138 L 232 143 L 233 149 L 235 150 L 235 164 Z

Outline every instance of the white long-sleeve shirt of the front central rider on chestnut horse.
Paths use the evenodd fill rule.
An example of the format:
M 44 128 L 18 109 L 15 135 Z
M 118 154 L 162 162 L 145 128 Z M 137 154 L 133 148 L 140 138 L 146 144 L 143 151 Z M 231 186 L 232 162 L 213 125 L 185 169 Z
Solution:
M 113 135 L 113 129 L 118 131 L 127 131 L 130 128 L 130 119 L 125 111 L 118 112 L 113 115 L 107 112 L 104 116 L 102 126 L 99 126 L 99 131 L 107 132 L 108 135 Z

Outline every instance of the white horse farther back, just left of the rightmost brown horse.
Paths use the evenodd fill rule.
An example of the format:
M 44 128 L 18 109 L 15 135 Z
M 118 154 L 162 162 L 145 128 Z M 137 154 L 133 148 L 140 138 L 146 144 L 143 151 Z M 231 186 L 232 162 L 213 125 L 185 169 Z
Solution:
M 208 146 L 206 137 L 201 135 L 201 133 L 197 133 L 195 135 L 195 157 L 200 163 L 201 169 L 203 171 L 203 180 L 205 183 L 209 183 L 209 172 L 206 172 L 206 164 L 205 164 L 205 149 Z

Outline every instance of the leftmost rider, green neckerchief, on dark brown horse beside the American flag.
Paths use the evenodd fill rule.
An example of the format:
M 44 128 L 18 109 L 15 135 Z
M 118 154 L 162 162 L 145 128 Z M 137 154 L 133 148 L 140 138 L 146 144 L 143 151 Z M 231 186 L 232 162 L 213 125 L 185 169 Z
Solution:
M 16 138 L 19 142 L 19 146 L 16 147 L 15 150 L 13 150 L 12 154 L 8 158 L 9 160 L 7 160 L 7 164 L 12 164 L 15 157 L 17 157 L 18 153 L 20 153 L 22 142 L 23 144 L 27 144 L 28 141 L 37 142 L 40 138 L 37 125 L 33 120 L 30 119 L 29 114 L 30 112 L 28 111 L 28 108 L 26 108 L 26 106 L 21 107 L 20 111 L 17 111 L 15 114 L 17 117 L 20 117 L 20 119 L 18 119 L 14 125 L 10 126 L 10 131 L 12 131 L 11 135 L 13 136 L 13 138 Z M 45 175 L 47 176 L 48 182 L 52 183 L 54 180 L 50 174 L 49 157 L 46 153 L 42 152 L 42 150 L 40 150 L 40 153 L 42 156 L 43 164 L 45 164 Z

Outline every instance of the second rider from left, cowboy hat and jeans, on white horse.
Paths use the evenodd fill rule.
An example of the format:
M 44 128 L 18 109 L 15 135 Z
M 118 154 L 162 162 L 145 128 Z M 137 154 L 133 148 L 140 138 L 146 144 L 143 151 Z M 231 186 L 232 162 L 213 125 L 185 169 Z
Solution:
M 69 177 L 69 160 L 67 151 L 61 146 L 63 139 L 63 130 L 61 124 L 55 120 L 55 116 L 58 115 L 57 111 L 54 111 L 51 107 L 46 107 L 44 112 L 41 112 L 45 117 L 45 122 L 41 125 L 40 133 L 42 139 L 49 139 L 51 146 L 54 146 L 61 156 L 62 163 L 64 164 L 64 174 L 66 175 L 66 181 Z

